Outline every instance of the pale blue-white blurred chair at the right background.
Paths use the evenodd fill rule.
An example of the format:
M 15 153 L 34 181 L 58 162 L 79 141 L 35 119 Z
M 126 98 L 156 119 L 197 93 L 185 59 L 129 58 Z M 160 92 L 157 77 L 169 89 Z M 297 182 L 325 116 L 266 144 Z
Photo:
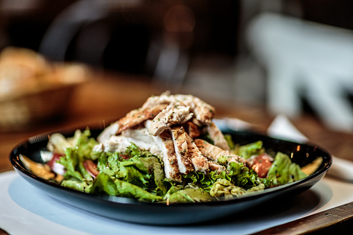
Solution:
M 301 98 L 331 128 L 353 131 L 353 32 L 262 14 L 248 26 L 248 44 L 268 73 L 270 112 L 297 116 Z

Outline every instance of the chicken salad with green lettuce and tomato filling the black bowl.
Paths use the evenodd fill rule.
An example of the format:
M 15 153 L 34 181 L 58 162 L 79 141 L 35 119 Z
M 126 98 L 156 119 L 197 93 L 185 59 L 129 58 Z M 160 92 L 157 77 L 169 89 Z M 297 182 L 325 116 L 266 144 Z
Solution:
M 195 96 L 150 96 L 96 139 L 89 129 L 51 134 L 44 165 L 70 189 L 166 204 L 231 200 L 307 177 L 261 141 L 234 143 L 214 113 Z

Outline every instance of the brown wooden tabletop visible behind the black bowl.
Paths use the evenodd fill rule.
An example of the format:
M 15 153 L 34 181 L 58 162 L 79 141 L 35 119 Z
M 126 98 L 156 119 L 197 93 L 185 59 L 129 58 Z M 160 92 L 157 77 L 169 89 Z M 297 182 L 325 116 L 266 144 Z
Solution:
M 124 116 L 130 110 L 140 107 L 151 94 L 158 95 L 165 90 L 166 87 L 155 86 L 146 78 L 95 72 L 92 80 L 78 87 L 71 103 L 68 104 L 67 114 L 63 119 L 29 126 L 27 130 L 23 131 L 0 132 L 0 172 L 12 170 L 8 154 L 17 143 L 24 141 L 28 137 L 42 132 L 66 128 L 107 125 Z M 171 89 L 171 92 L 175 93 L 173 89 Z M 179 92 L 184 93 L 182 91 Z M 187 93 L 192 94 L 192 92 Z M 207 94 L 199 97 L 216 107 L 217 118 L 227 116 L 248 121 L 255 125 L 256 131 L 261 133 L 265 133 L 266 128 L 268 128 L 274 118 L 274 116 L 266 113 L 264 107 L 252 107 L 232 101 L 208 100 Z M 336 157 L 353 161 L 352 134 L 327 130 L 318 119 L 309 114 L 302 115 L 298 119 L 291 121 L 313 143 L 322 146 Z M 345 218 L 348 217 L 349 215 Z M 341 224 L 338 221 L 335 226 L 340 226 Z M 327 227 L 327 229 L 332 227 L 328 225 L 329 223 L 326 223 L 323 227 Z M 315 227 L 316 225 L 311 226 Z M 286 228 L 289 229 L 289 227 Z M 282 228 L 281 231 L 286 232 L 287 230 Z M 297 232 L 300 232 L 300 230 Z

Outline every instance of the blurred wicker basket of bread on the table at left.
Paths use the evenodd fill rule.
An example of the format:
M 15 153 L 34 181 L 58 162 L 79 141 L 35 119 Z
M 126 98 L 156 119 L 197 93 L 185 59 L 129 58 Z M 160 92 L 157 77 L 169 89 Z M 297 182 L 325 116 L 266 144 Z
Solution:
M 62 116 L 74 90 L 88 77 L 89 71 L 82 64 L 49 62 L 30 49 L 3 49 L 0 131 L 28 130 Z

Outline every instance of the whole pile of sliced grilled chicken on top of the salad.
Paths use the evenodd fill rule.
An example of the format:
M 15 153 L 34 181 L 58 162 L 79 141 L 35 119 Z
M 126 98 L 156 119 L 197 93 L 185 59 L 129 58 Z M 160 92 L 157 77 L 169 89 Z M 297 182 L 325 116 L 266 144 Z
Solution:
M 214 107 L 191 95 L 171 95 L 164 92 L 151 96 L 137 110 L 102 132 L 97 150 L 124 151 L 131 142 L 139 148 L 160 155 L 166 178 L 180 182 L 181 174 L 191 171 L 225 171 L 217 163 L 220 156 L 229 162 L 239 162 L 239 156 L 230 153 L 227 141 L 218 127 L 212 123 Z M 191 120 L 192 119 L 192 120 Z M 206 130 L 215 145 L 198 138 Z

